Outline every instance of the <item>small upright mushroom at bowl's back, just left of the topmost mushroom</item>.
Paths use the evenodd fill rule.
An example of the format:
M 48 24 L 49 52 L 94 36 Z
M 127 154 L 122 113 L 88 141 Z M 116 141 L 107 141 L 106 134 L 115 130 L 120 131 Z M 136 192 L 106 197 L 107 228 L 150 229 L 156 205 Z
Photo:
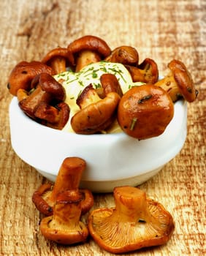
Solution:
M 68 48 L 55 48 L 42 59 L 43 64 L 52 67 L 55 74 L 66 71 L 66 67 L 75 64 L 74 56 Z

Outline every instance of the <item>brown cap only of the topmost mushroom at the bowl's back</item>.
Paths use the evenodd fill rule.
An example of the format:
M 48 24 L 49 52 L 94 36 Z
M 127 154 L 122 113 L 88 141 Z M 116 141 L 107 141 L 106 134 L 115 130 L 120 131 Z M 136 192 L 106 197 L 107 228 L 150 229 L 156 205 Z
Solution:
M 86 35 L 84 37 L 76 39 L 68 45 L 68 48 L 72 51 L 73 54 L 78 53 L 82 50 L 92 50 L 99 53 L 99 55 L 104 58 L 109 56 L 111 52 L 110 47 L 107 45 L 107 42 L 99 37 L 95 37 L 92 35 Z

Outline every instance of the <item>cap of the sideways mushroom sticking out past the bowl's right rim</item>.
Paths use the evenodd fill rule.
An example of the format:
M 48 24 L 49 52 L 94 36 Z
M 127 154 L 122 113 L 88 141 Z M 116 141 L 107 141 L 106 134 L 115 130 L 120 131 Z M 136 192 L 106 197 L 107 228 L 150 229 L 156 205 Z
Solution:
M 194 82 L 185 64 L 183 64 L 182 61 L 173 59 L 169 62 L 168 67 L 172 71 L 175 81 L 178 84 L 180 94 L 182 94 L 186 101 L 194 102 L 197 98 L 198 91 L 194 88 Z

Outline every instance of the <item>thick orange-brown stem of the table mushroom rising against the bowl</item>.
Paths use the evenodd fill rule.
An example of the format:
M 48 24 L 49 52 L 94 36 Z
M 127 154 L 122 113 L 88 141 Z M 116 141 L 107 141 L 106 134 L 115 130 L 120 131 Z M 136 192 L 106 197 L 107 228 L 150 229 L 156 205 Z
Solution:
M 83 170 L 85 170 L 85 160 L 79 157 L 66 157 L 61 164 L 49 200 L 56 201 L 56 197 L 60 192 L 78 189 Z

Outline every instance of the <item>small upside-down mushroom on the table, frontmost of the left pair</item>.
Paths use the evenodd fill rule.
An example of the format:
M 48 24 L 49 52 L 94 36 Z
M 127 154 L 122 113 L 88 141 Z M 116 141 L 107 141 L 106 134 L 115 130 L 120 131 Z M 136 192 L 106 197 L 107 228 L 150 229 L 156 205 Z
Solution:
M 42 235 L 58 244 L 85 242 L 88 228 L 80 221 L 82 200 L 77 189 L 58 194 L 53 216 L 45 217 L 40 223 Z

